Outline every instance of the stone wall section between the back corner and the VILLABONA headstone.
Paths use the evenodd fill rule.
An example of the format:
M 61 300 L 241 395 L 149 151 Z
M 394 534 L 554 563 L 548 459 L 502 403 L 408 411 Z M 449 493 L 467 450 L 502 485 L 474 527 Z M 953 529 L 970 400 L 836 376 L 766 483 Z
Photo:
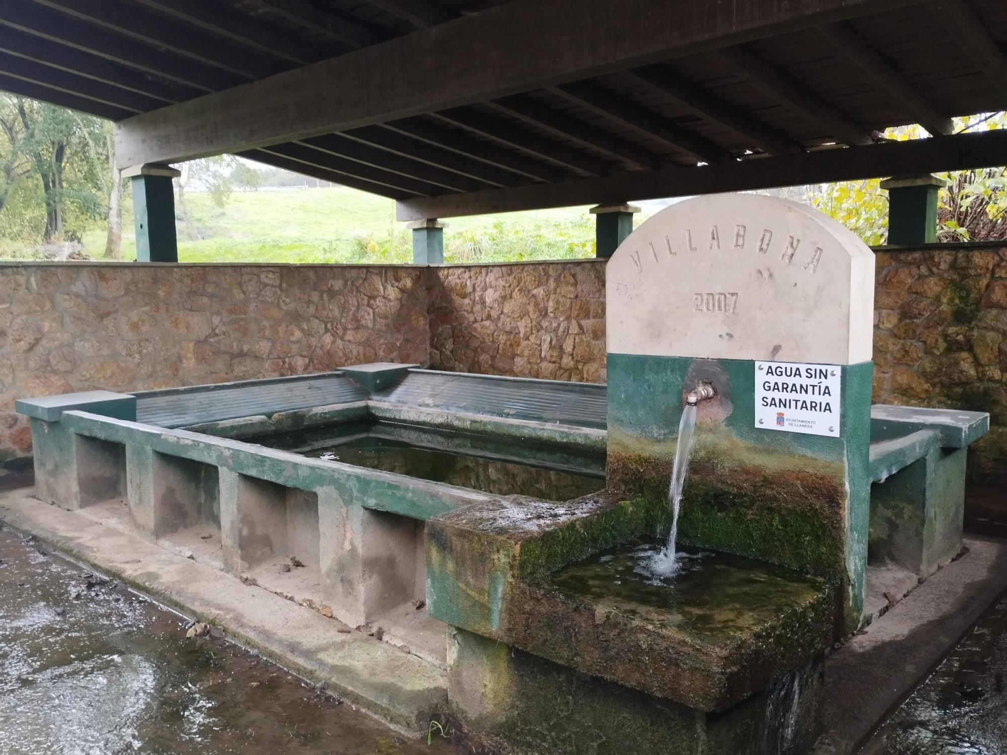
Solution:
M 432 268 L 438 369 L 605 382 L 603 261 Z

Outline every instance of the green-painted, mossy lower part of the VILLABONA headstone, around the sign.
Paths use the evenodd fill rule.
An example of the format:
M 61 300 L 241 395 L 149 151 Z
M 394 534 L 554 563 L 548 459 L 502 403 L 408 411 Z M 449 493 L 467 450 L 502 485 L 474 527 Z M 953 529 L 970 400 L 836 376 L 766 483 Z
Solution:
M 759 427 L 752 361 L 609 354 L 608 482 L 667 500 L 684 392 L 711 384 L 716 395 L 697 412 L 683 541 L 828 576 L 853 630 L 867 561 L 873 366 L 838 368 L 840 437 L 830 437 Z

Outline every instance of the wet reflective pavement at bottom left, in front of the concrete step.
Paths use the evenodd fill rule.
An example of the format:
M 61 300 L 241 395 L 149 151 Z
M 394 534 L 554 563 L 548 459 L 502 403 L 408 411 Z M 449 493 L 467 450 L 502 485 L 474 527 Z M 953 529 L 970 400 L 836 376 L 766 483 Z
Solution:
M 224 637 L 186 638 L 187 624 L 0 530 L 0 753 L 463 751 L 407 739 Z

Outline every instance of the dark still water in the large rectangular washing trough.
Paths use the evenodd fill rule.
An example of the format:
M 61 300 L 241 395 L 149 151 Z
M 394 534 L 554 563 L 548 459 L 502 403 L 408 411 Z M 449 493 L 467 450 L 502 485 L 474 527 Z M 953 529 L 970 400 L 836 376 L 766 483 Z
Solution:
M 398 423 L 330 425 L 255 442 L 496 495 L 570 500 L 605 485 L 605 459 L 600 453 Z

